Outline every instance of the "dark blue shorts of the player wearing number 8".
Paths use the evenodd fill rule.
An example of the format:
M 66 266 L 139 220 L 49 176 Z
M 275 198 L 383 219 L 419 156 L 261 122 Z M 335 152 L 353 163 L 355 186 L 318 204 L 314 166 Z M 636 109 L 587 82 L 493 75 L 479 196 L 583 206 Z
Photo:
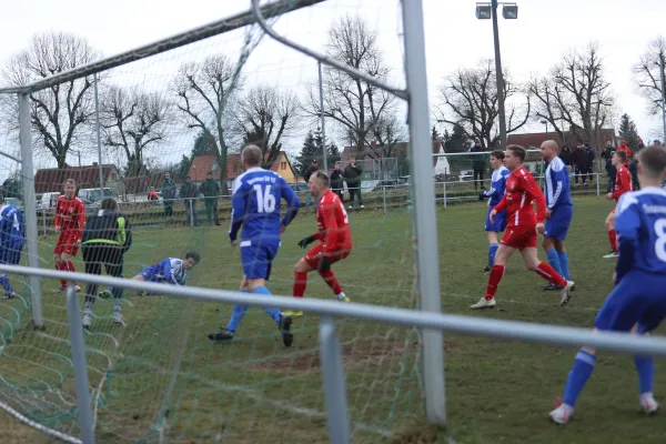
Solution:
M 606 297 L 594 326 L 603 331 L 628 332 L 638 324 L 639 333 L 655 330 L 666 317 L 664 287 L 664 275 L 628 272 Z

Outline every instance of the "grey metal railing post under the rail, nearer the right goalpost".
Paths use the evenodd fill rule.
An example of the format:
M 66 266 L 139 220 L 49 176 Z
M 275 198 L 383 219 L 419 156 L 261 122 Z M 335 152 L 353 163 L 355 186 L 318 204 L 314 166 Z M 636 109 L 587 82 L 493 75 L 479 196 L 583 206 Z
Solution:
M 350 417 L 347 413 L 346 386 L 342 350 L 335 322 L 331 316 L 320 320 L 320 357 L 324 372 L 324 397 L 329 417 L 329 437 L 331 443 L 351 443 Z

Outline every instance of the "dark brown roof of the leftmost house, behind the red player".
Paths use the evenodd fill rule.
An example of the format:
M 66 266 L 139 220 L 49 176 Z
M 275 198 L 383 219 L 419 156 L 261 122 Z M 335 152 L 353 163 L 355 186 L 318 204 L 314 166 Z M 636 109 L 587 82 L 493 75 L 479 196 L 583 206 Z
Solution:
M 120 172 L 114 164 L 102 165 L 102 178 L 104 185 L 109 182 L 111 174 Z M 62 172 L 57 168 L 48 168 L 37 170 L 34 174 L 34 192 L 38 194 L 57 192 L 62 189 L 63 179 L 73 179 L 77 181 L 77 186 L 82 188 L 99 188 L 100 186 L 100 169 L 97 163 L 84 167 L 67 167 Z

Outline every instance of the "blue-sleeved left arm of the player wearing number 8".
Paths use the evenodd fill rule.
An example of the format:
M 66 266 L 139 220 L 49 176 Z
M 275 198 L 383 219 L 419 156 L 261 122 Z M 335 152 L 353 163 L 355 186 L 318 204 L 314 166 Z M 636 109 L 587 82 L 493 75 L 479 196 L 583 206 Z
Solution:
M 617 231 L 619 258 L 615 266 L 615 282 L 619 282 L 634 265 L 640 228 L 637 206 L 638 201 L 632 194 L 623 195 L 617 202 L 615 231 Z

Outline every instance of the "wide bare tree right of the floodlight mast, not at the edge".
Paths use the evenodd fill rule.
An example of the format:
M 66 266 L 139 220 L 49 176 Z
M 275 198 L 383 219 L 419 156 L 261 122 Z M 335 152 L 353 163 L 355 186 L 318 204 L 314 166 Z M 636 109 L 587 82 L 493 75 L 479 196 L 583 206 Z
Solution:
M 574 129 L 578 142 L 601 143 L 601 130 L 610 119 L 614 100 L 596 43 L 565 56 L 548 75 L 532 79 L 528 89 L 534 115 L 548 121 L 563 143 L 563 123 Z

